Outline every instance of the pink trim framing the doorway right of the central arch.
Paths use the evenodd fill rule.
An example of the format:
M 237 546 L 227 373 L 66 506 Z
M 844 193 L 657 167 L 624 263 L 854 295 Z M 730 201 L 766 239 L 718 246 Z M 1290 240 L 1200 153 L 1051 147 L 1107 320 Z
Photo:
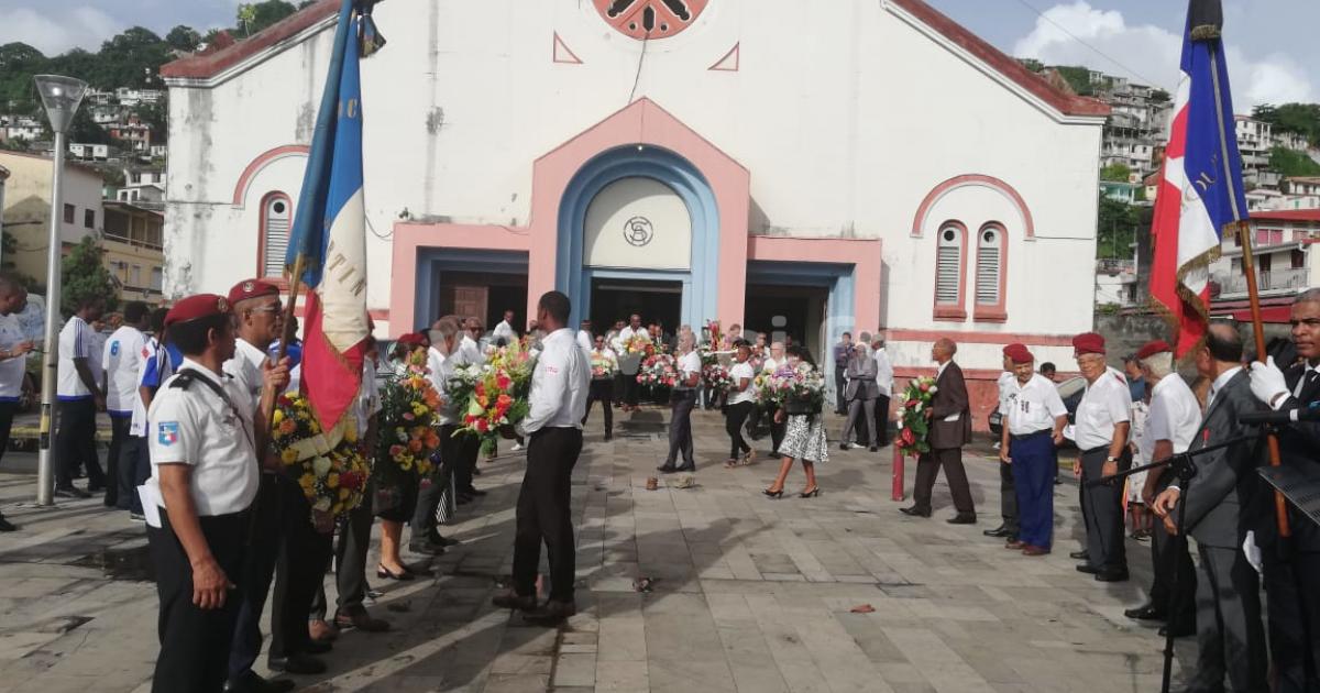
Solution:
M 742 281 L 746 290 L 747 260 L 779 263 L 837 263 L 853 265 L 853 315 L 857 325 L 873 325 L 880 317 L 882 240 L 850 238 L 747 236 Z M 723 255 L 719 257 L 719 290 L 729 290 Z M 742 310 L 738 312 L 739 322 Z M 722 314 L 721 314 L 722 315 Z

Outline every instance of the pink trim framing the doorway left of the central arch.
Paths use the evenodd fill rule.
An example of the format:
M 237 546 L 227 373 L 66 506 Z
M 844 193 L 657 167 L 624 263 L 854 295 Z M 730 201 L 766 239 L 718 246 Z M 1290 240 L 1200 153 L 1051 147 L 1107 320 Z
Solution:
M 399 325 L 389 323 L 389 335 L 399 337 L 412 330 L 417 308 L 417 251 L 421 248 L 461 248 L 491 251 L 521 251 L 531 248 L 529 232 L 525 227 L 479 226 L 479 224 L 421 224 L 413 222 L 395 223 L 395 238 L 389 273 L 389 313 L 404 315 Z M 528 252 L 528 273 L 535 272 L 536 263 Z M 550 269 L 550 282 L 554 276 Z M 544 290 L 543 290 L 544 292 Z M 536 301 L 543 292 L 536 292 L 528 281 L 528 301 Z M 535 306 L 533 306 L 535 308 Z M 528 313 L 533 314 L 533 313 Z

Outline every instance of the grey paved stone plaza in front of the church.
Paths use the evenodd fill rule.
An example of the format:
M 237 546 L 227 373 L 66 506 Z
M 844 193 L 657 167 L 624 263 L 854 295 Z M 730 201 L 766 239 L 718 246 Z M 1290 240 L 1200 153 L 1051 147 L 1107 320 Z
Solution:
M 756 465 L 722 469 L 727 437 L 714 412 L 696 414 L 697 484 L 661 480 L 647 491 L 665 451 L 663 414 L 622 420 L 603 442 L 595 412 L 574 470 L 579 614 L 565 627 L 525 627 L 490 606 L 512 561 L 525 462 L 506 455 L 483 463 L 477 482 L 490 495 L 462 507 L 445 531 L 463 544 L 434 561 L 433 581 L 372 579 L 383 594 L 368 606 L 395 630 L 343 634 L 327 656 L 330 673 L 302 678 L 302 690 L 1159 689 L 1163 640 L 1122 615 L 1144 598 L 1148 548 L 1129 543 L 1131 582 L 1074 572 L 1071 479 L 1056 487 L 1055 553 L 1026 558 L 981 535 L 999 520 L 998 474 L 983 442 L 966 454 L 981 523 L 954 527 L 944 521 L 952 507 L 942 478 L 933 519 L 898 512 L 888 449 L 836 445 L 820 469 L 820 498 L 768 500 L 760 490 L 777 469 L 764 455 L 768 440 Z M 24 525 L 0 535 L 0 692 L 147 690 L 154 587 L 107 578 L 102 568 L 107 548 L 114 557 L 144 541 L 141 525 L 96 499 L 16 507 L 34 494 L 28 458 L 7 455 L 9 473 L 0 475 L 4 512 Z M 909 488 L 912 471 L 909 463 Z M 796 470 L 787 490 L 801 486 Z M 656 578 L 652 593 L 635 591 L 643 576 Z M 874 611 L 853 612 L 863 605 Z M 1191 640 L 1179 643 L 1179 657 L 1192 661 Z

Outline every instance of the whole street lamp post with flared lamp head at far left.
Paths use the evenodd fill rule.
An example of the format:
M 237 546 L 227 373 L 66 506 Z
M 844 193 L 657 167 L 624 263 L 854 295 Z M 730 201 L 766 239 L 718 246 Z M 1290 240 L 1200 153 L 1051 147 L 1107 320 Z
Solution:
M 63 219 L 63 177 L 66 133 L 78 112 L 87 83 L 71 77 L 37 75 L 37 91 L 46 108 L 46 119 L 55 133 L 54 168 L 50 173 L 50 238 L 46 246 L 46 335 L 41 354 L 41 447 L 37 453 L 37 504 L 54 503 L 54 459 L 50 442 L 54 433 L 55 383 L 59 379 L 59 260 L 62 244 L 59 224 Z

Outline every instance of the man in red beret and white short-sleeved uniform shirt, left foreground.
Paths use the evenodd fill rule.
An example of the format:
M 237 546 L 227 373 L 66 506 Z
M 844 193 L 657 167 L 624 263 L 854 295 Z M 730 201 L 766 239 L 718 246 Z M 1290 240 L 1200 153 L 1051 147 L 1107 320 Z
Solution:
M 147 539 L 160 594 L 160 656 L 154 693 L 222 689 L 243 594 L 257 498 L 257 450 L 265 449 L 277 392 L 288 363 L 263 367 L 260 407 L 220 375 L 234 355 L 228 301 L 199 294 L 174 305 L 166 318 L 185 355 L 180 372 L 152 401 L 152 477 L 156 507 Z

